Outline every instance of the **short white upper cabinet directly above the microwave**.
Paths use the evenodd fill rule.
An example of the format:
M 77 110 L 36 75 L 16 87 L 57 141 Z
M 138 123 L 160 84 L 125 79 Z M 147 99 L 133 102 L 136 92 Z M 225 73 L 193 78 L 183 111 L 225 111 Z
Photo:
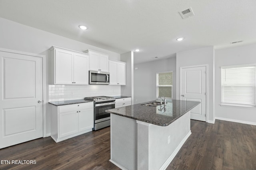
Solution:
M 108 55 L 92 50 L 84 51 L 90 56 L 90 70 L 108 72 Z

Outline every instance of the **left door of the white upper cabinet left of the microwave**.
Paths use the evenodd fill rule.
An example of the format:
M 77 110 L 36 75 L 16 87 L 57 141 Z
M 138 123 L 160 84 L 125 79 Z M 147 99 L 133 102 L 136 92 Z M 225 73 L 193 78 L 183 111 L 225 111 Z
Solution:
M 55 84 L 72 84 L 73 53 L 59 49 L 55 52 Z

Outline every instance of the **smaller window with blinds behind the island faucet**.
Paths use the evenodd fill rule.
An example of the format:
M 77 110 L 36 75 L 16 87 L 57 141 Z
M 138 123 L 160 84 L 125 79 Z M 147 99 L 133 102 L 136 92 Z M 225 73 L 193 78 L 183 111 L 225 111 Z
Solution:
M 156 97 L 172 98 L 172 72 L 156 73 Z

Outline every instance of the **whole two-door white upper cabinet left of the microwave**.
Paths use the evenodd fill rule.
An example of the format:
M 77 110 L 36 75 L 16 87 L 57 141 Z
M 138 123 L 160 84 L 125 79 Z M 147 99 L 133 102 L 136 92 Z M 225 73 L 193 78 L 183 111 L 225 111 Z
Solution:
M 89 55 L 54 47 L 50 49 L 53 84 L 88 84 Z

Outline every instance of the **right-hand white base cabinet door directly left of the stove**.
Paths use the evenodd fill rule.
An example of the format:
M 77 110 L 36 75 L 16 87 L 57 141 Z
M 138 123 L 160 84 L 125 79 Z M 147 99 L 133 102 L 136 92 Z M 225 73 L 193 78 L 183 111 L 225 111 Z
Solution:
M 93 107 L 92 109 L 81 110 L 78 113 L 78 131 L 92 130 L 93 128 Z

